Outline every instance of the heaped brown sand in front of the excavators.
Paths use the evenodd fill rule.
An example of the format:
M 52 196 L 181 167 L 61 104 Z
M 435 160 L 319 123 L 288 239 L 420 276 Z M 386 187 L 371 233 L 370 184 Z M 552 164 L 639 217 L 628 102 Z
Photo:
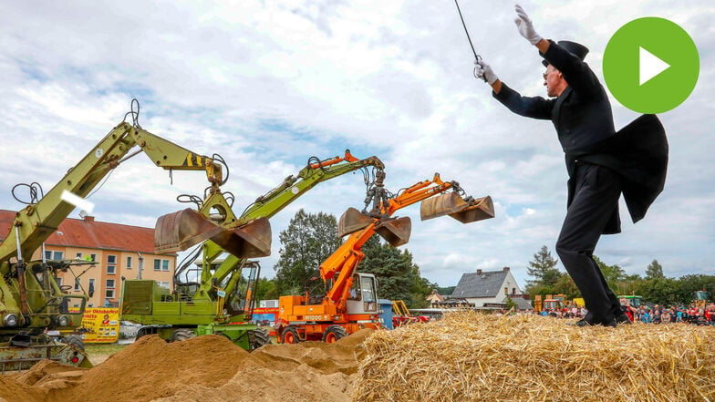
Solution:
M 253 353 L 218 335 L 171 344 L 144 336 L 114 355 L 91 356 L 91 369 L 46 360 L 0 376 L 0 400 L 346 402 L 370 333 L 331 345 L 266 345 Z

